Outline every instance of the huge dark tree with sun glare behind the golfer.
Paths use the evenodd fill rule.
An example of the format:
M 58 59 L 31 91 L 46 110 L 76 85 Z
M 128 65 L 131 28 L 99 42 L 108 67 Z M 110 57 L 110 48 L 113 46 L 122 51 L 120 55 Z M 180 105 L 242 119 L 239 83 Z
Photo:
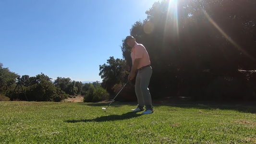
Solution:
M 130 29 L 149 53 L 152 97 L 188 87 L 198 95 L 219 76 L 239 77 L 245 83 L 238 69 L 256 69 L 255 7 L 254 0 L 155 2 L 147 18 Z M 131 49 L 124 41 L 121 49 L 131 66 Z

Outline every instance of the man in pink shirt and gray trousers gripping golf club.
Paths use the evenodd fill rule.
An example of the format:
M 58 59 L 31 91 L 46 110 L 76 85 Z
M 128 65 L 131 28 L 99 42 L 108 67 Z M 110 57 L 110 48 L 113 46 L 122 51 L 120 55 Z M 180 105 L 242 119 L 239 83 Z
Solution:
M 142 44 L 138 44 L 133 36 L 126 36 L 125 42 L 132 48 L 131 57 L 133 61 L 132 70 L 128 76 L 128 80 L 133 80 L 135 71 L 138 70 L 135 80 L 135 93 L 138 100 L 138 106 L 132 111 L 143 111 L 142 114 L 153 113 L 152 99 L 149 93 L 148 84 L 152 75 L 152 67 L 146 48 Z

